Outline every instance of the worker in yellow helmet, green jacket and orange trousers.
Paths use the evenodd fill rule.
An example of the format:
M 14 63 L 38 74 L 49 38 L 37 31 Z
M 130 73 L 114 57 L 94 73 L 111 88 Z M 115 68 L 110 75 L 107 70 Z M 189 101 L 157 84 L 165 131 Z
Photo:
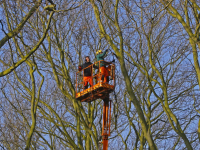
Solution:
M 101 61 L 100 66 L 99 66 L 99 63 L 97 64 L 97 66 L 99 66 L 99 71 L 100 71 L 100 74 L 101 74 L 100 79 L 103 82 L 108 83 L 109 82 L 109 73 L 108 73 L 108 70 L 106 68 L 106 64 L 111 64 L 111 62 L 105 62 L 104 61 L 104 58 L 106 57 L 107 52 L 108 52 L 108 50 L 105 50 L 104 52 L 102 52 L 102 50 L 98 50 L 96 52 L 96 58 L 97 58 L 97 61 Z

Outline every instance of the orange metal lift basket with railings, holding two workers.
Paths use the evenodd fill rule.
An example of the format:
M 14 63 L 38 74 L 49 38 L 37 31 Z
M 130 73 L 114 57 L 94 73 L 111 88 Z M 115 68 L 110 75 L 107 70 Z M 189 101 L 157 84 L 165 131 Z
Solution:
M 104 64 L 109 80 L 101 72 L 100 64 Z M 92 85 L 84 89 L 84 69 L 91 68 Z M 96 99 L 105 99 L 115 88 L 115 65 L 106 61 L 98 61 L 76 73 L 76 99 L 81 102 L 91 102 Z M 103 79 L 102 79 L 103 78 Z

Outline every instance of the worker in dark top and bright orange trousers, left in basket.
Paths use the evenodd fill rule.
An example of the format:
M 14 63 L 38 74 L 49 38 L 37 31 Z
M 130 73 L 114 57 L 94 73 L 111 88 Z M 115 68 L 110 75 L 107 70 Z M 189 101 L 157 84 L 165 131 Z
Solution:
M 90 57 L 89 56 L 86 56 L 85 57 L 85 63 L 79 66 L 79 71 L 81 71 L 82 69 L 84 69 L 84 71 L 83 71 L 83 73 L 84 73 L 83 74 L 84 89 L 87 89 L 88 88 L 88 83 L 90 84 L 90 86 L 92 86 L 92 77 L 91 77 L 92 63 L 90 62 Z

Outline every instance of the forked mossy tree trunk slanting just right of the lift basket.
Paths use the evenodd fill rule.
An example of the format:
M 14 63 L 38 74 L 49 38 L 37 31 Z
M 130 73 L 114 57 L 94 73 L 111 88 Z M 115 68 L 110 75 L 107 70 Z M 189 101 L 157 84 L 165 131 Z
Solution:
M 144 132 L 144 137 L 146 138 L 146 140 L 148 141 L 149 147 L 151 149 L 157 149 L 154 140 L 152 138 L 150 129 L 148 128 L 146 119 L 144 117 L 144 113 L 142 111 L 142 108 L 139 104 L 139 101 L 137 99 L 137 97 L 135 96 L 135 93 L 133 91 L 132 85 L 131 85 L 131 80 L 130 77 L 128 76 L 128 72 L 127 69 L 125 67 L 125 60 L 124 60 L 124 42 L 123 42 L 123 35 L 122 35 L 122 31 L 121 28 L 119 26 L 119 18 L 118 18 L 118 6 L 119 6 L 119 0 L 116 0 L 116 3 L 114 4 L 114 19 L 111 20 L 113 25 L 116 28 L 117 34 L 118 34 L 118 38 L 119 38 L 119 46 L 115 45 L 112 38 L 107 34 L 104 25 L 102 23 L 101 17 L 100 17 L 100 11 L 99 8 L 96 4 L 96 2 L 94 0 L 90 0 L 90 3 L 94 9 L 94 14 L 99 26 L 99 30 L 100 30 L 100 36 L 106 38 L 106 40 L 109 42 L 110 46 L 112 47 L 112 49 L 115 51 L 115 54 L 118 57 L 119 63 L 120 63 L 120 67 L 121 67 L 121 71 L 122 74 L 124 76 L 124 80 L 126 83 L 126 88 L 127 88 L 127 92 L 130 95 L 130 98 L 132 99 L 132 102 L 137 110 L 138 116 L 140 118 L 140 124 L 142 127 L 142 130 Z

